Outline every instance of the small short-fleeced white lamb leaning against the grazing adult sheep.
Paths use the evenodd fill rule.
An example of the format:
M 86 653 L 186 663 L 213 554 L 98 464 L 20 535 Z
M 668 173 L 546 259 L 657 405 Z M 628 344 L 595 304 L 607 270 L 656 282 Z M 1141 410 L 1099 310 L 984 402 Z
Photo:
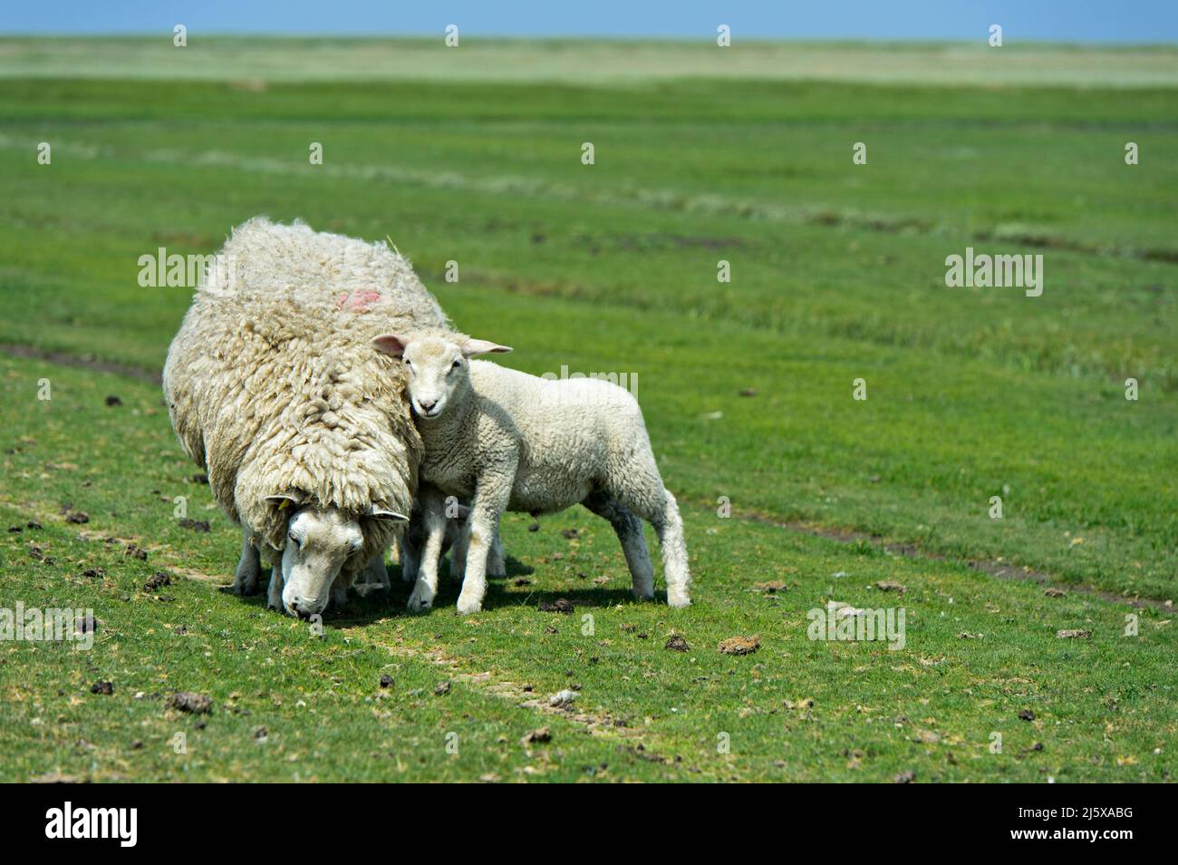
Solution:
M 638 517 L 659 536 L 667 602 L 686 607 L 687 546 L 675 497 L 663 487 L 642 410 L 605 381 L 547 381 L 471 356 L 511 349 L 457 334 L 385 335 L 373 343 L 399 357 L 424 442 L 419 500 L 426 542 L 410 609 L 432 606 L 444 494 L 472 496 L 458 612 L 482 608 L 490 539 L 504 510 L 556 513 L 584 504 L 614 527 L 634 595 L 654 597 L 654 569 Z

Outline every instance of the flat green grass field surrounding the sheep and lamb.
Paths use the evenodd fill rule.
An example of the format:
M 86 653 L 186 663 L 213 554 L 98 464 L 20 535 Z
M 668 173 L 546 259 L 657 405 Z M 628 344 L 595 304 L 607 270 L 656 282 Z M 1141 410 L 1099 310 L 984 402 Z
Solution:
M 1172 779 L 1172 49 L 210 45 L 0 40 L 0 607 L 99 622 L 0 642 L 0 780 Z M 635 603 L 580 509 L 505 520 L 476 616 L 409 615 L 396 566 L 322 636 L 219 592 L 238 536 L 152 381 L 191 292 L 138 259 L 257 213 L 390 238 L 510 365 L 637 375 L 695 605 Z M 946 288 L 966 246 L 1043 255 L 1043 296 Z M 828 601 L 904 647 L 808 639 Z

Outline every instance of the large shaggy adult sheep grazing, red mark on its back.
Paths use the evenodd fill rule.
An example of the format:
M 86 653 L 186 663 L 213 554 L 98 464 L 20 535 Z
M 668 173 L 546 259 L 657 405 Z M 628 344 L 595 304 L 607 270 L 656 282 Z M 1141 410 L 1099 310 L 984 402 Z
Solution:
M 319 613 L 405 521 L 422 443 L 401 364 L 371 346 L 398 322 L 449 326 L 382 243 L 258 217 L 213 259 L 168 349 L 164 395 L 243 528 L 239 593 L 257 590 L 260 553 L 274 564 L 270 606 Z

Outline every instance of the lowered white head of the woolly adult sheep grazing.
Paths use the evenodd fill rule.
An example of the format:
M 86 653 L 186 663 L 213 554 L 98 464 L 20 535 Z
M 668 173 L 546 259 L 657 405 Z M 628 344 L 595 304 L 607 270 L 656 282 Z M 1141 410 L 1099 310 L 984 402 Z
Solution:
M 360 519 L 335 507 L 305 507 L 298 495 L 269 496 L 267 501 L 291 511 L 283 547 L 283 607 L 304 619 L 322 613 L 344 562 L 364 549 Z M 408 517 L 377 507 L 363 516 L 408 522 Z

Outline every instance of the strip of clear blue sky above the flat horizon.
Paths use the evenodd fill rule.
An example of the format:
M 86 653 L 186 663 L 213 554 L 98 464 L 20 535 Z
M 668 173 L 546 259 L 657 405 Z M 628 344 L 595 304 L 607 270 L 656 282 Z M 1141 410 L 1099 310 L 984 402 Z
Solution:
M 611 35 L 1178 42 L 1178 0 L 2 0 L 0 33 Z

